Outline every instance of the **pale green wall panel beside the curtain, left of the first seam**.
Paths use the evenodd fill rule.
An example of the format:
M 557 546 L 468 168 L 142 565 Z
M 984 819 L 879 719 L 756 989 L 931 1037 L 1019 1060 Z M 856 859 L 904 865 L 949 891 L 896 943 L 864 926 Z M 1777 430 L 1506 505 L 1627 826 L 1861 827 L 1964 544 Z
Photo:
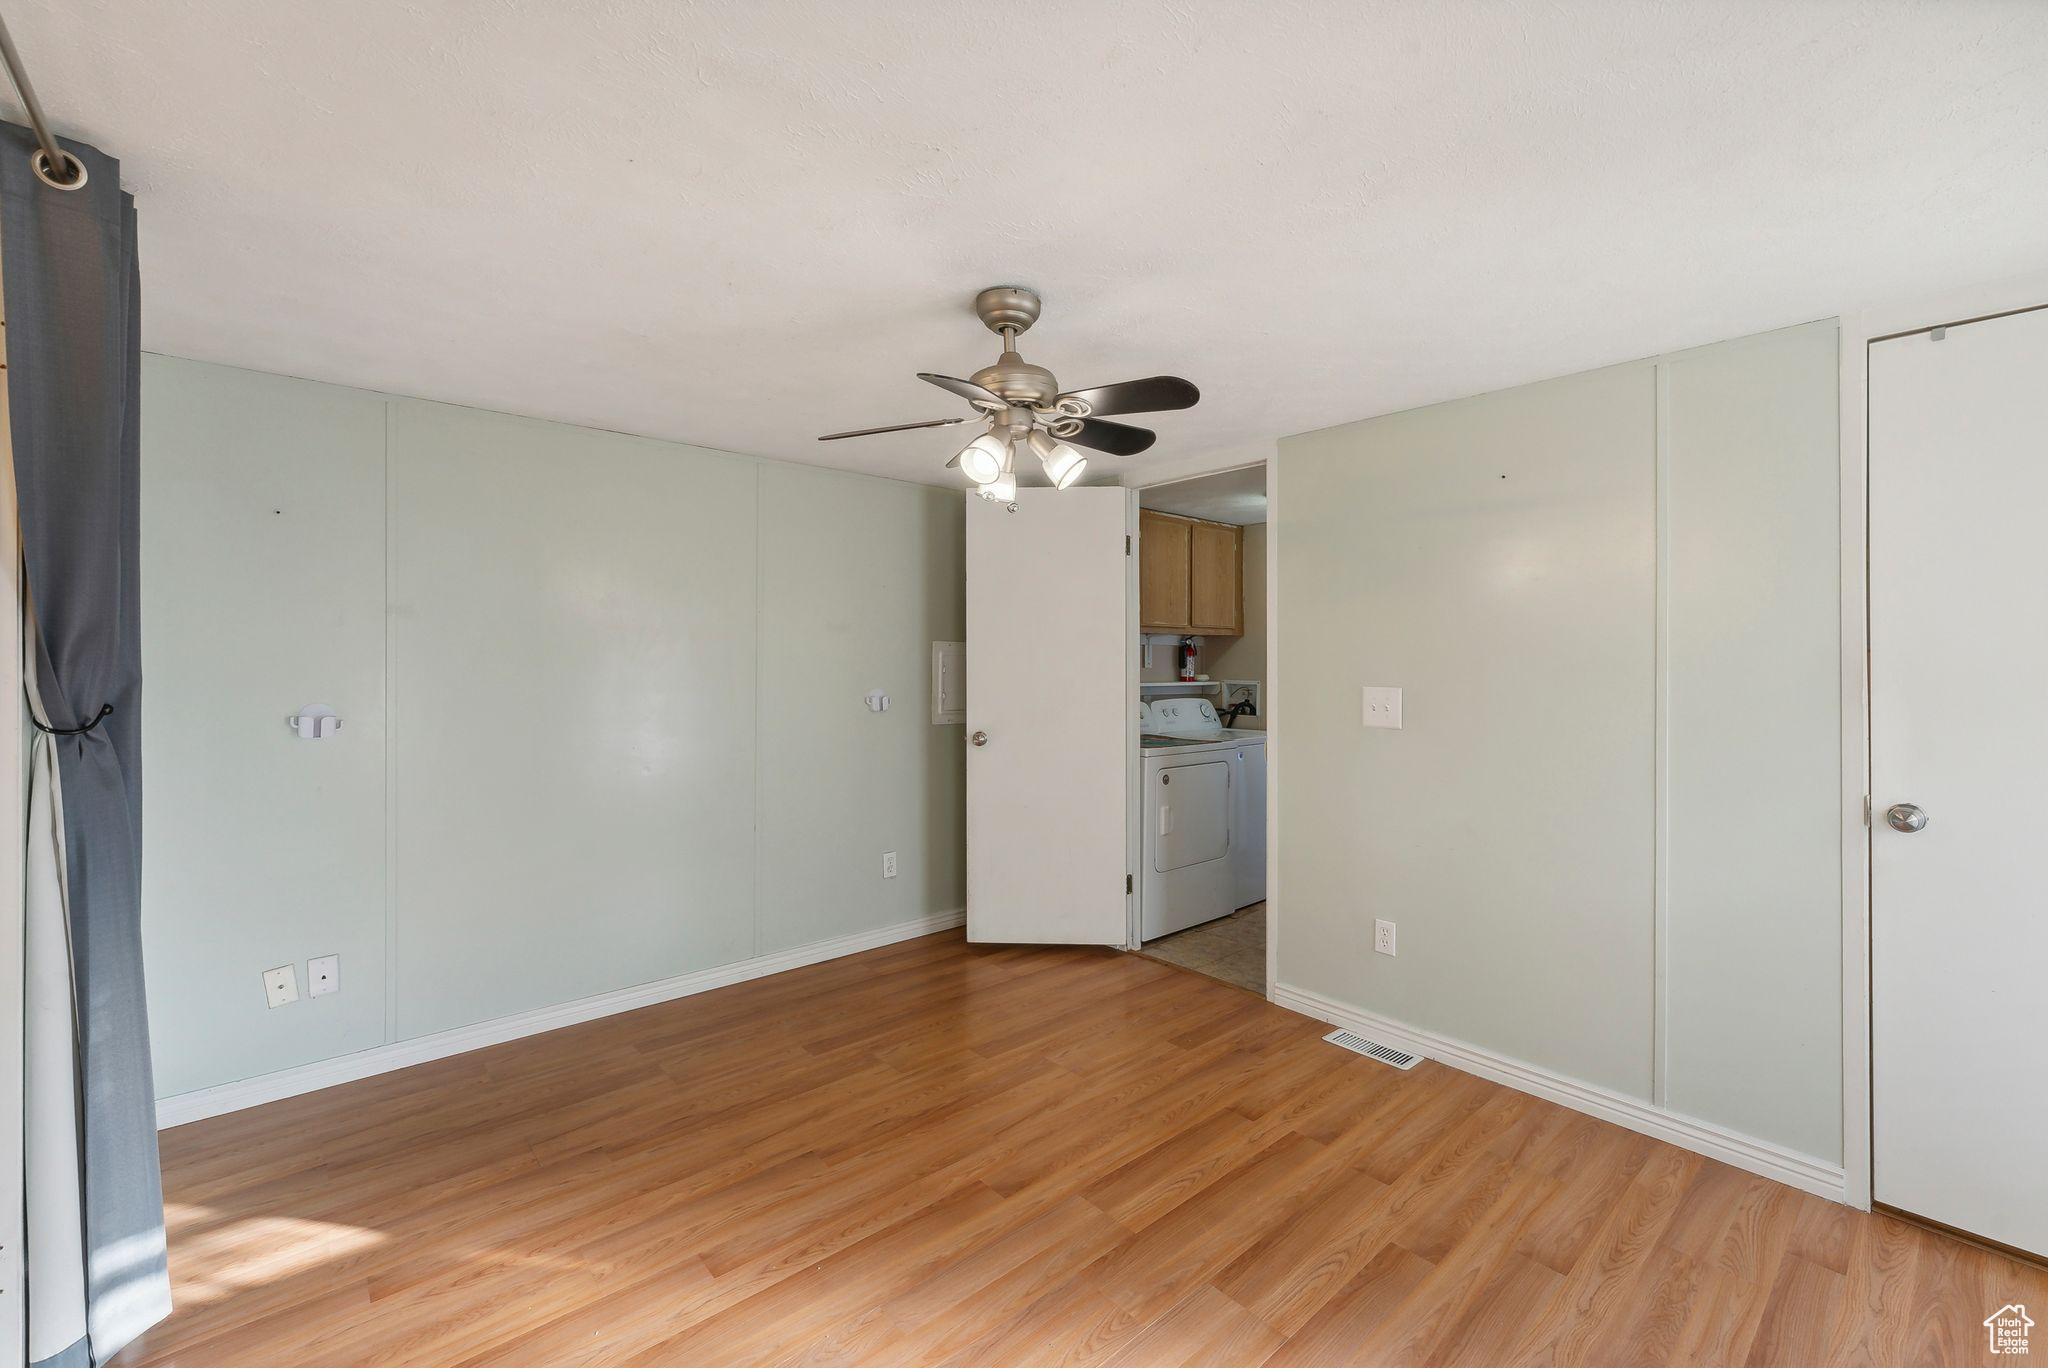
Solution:
M 160 1096 L 385 1040 L 377 395 L 143 356 L 143 971 Z M 285 727 L 326 702 L 330 741 Z M 262 971 L 342 956 L 270 1012 Z M 305 983 L 299 983 L 305 991 Z

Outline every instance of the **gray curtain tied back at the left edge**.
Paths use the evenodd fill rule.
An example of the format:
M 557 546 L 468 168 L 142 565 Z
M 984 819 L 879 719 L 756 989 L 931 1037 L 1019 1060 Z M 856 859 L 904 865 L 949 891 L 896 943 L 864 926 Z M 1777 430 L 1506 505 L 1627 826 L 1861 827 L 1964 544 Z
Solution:
M 29 1358 L 70 1368 L 168 1315 L 170 1276 L 141 973 L 135 205 L 119 162 L 66 147 L 82 188 L 37 180 L 31 133 L 0 125 L 29 809 L 53 823 L 29 831 Z

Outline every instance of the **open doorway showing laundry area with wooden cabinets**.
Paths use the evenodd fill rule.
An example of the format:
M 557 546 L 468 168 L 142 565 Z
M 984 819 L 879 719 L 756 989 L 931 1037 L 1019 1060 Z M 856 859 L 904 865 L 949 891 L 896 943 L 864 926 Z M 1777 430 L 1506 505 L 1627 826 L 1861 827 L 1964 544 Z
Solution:
M 1139 489 L 1137 942 L 1264 995 L 1266 467 Z

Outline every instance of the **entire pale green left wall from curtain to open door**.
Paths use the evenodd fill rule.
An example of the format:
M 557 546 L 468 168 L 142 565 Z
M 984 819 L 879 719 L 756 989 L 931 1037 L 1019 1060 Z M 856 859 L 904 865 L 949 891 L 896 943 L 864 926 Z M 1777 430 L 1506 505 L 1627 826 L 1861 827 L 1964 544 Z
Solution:
M 958 909 L 961 526 L 952 491 L 147 356 L 158 1094 Z M 340 737 L 295 739 L 305 702 Z M 342 991 L 266 1010 L 315 954 Z

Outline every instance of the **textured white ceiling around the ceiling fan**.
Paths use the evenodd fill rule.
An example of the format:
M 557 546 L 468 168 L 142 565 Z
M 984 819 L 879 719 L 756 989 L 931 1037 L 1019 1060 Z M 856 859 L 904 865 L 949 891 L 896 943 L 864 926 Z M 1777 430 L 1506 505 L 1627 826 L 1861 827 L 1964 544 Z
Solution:
M 946 479 L 1042 291 L 1128 469 L 2048 264 L 2040 0 L 12 0 L 143 344 Z M 1098 461 L 1098 471 L 1108 461 Z M 1096 473 L 1096 471 L 1092 471 Z

